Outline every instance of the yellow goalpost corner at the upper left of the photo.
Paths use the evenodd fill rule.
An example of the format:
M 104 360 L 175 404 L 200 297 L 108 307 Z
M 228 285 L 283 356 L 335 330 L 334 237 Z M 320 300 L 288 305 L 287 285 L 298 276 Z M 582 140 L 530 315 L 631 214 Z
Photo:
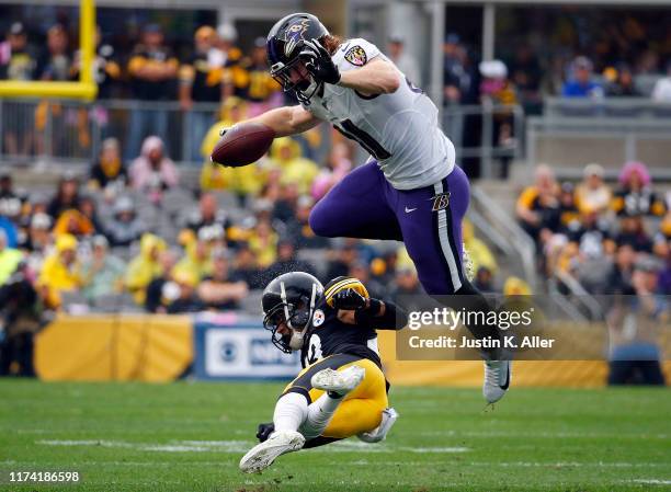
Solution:
M 79 82 L 23 82 L 0 81 L 0 98 L 69 98 L 92 100 L 98 93 L 93 79 L 93 56 L 95 52 L 95 4 L 94 0 L 80 0 L 79 49 L 81 68 Z

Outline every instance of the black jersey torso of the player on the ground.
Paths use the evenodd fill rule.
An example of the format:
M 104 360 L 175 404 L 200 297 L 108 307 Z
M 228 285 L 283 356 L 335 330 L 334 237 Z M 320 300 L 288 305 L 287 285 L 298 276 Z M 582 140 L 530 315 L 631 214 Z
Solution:
M 349 324 L 338 319 L 338 309 L 320 300 L 312 314 L 300 351 L 303 367 L 333 354 L 351 354 L 367 358 L 380 366 L 377 333 L 371 324 Z

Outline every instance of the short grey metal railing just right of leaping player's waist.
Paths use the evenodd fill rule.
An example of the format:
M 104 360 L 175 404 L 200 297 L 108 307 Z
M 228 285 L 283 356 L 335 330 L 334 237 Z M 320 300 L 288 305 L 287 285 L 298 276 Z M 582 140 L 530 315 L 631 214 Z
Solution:
M 512 162 L 522 156 L 524 121 L 522 106 L 493 104 L 489 100 L 482 104 L 446 105 L 443 110 L 443 129 L 456 148 L 457 160 L 479 158 L 485 179 L 494 176 L 497 161 Z M 504 124 L 509 125 L 510 138 L 501 142 L 499 136 Z M 475 145 L 466 145 L 467 133 L 479 133 Z

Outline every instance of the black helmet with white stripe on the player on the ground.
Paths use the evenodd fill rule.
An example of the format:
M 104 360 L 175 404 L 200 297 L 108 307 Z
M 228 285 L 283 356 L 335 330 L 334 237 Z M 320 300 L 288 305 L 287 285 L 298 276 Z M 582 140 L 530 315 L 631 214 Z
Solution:
M 271 331 L 273 344 L 285 354 L 303 347 L 303 336 L 312 320 L 323 286 L 309 273 L 289 272 L 274 278 L 263 290 L 263 328 Z M 287 333 L 277 330 L 282 324 Z

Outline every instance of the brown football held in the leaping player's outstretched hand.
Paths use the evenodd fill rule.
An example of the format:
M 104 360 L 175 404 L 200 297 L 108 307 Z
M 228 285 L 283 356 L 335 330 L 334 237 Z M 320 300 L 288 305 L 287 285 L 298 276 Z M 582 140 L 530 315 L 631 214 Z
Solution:
M 274 138 L 275 131 L 262 123 L 238 123 L 215 146 L 212 161 L 231 168 L 251 164 L 268 152 Z

